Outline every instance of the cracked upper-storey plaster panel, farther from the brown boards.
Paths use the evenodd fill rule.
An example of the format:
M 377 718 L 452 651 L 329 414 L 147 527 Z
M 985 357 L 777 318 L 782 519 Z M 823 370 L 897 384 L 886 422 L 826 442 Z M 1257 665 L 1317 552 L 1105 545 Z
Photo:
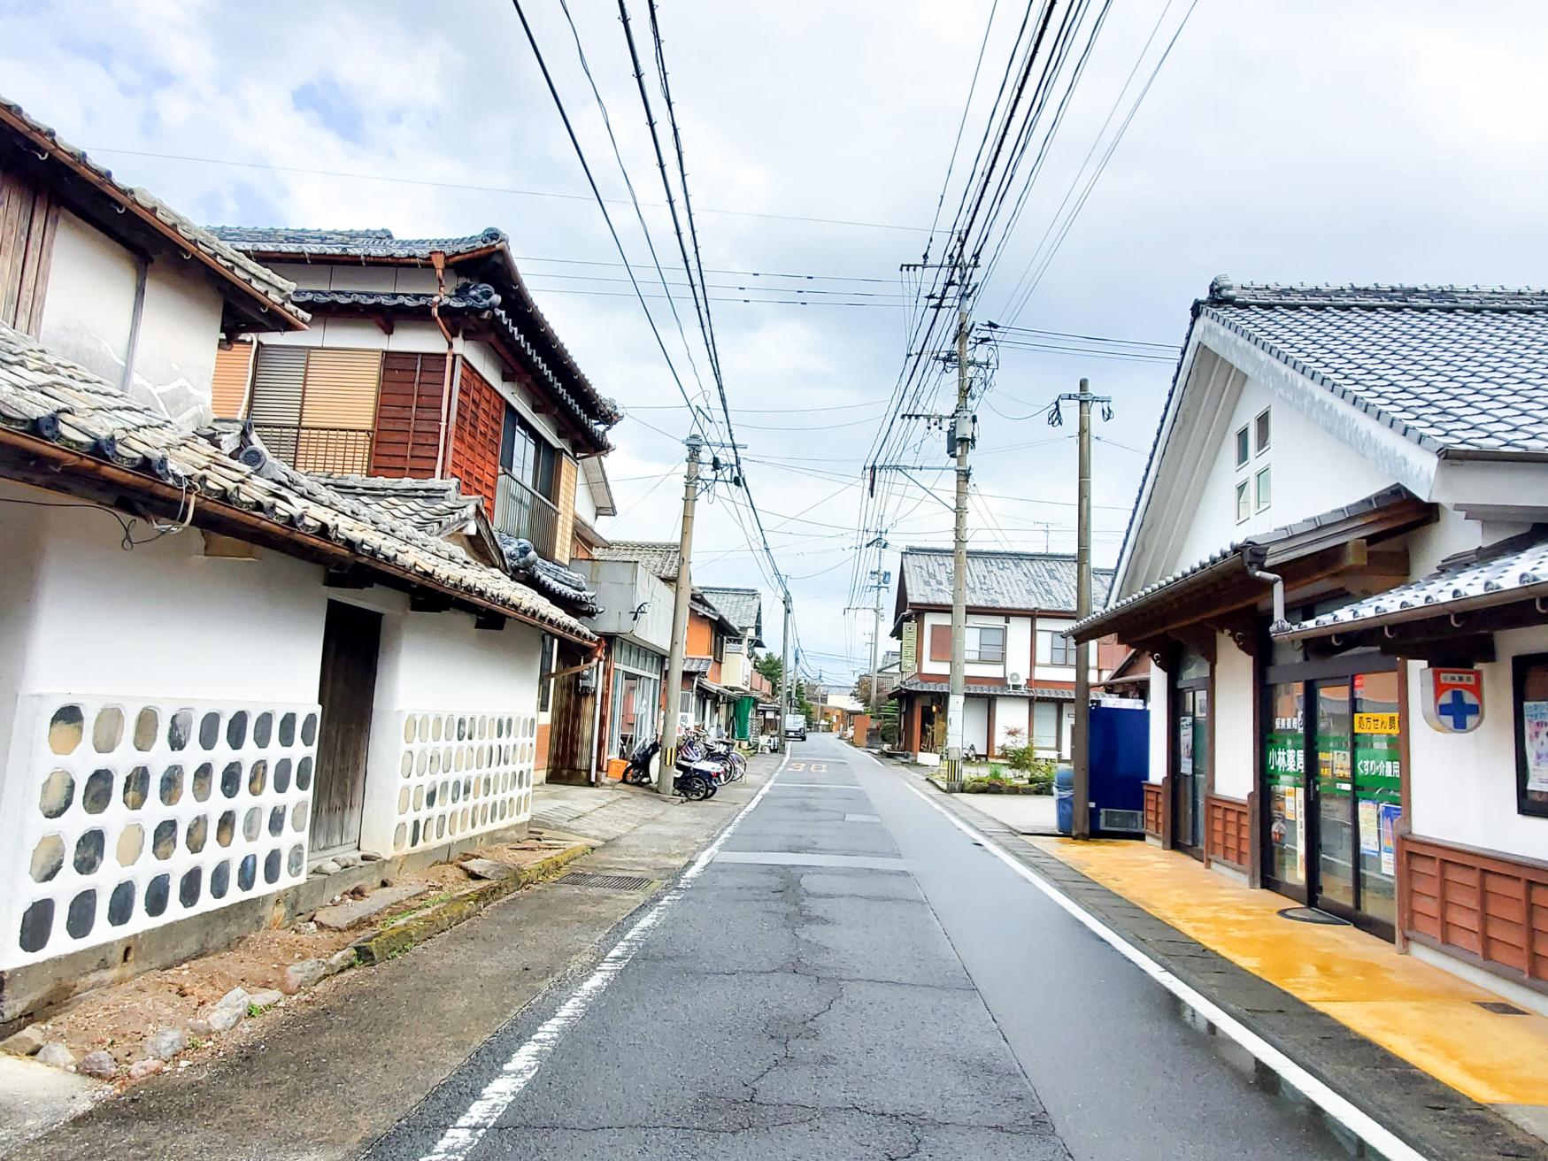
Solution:
M 220 291 L 203 268 L 159 257 L 146 271 L 130 395 L 183 427 L 214 418 L 211 379 L 220 342 Z

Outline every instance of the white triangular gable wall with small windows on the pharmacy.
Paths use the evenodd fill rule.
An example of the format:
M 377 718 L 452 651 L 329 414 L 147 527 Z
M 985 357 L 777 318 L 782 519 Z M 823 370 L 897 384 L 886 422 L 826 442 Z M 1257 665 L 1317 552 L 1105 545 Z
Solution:
M 1271 412 L 1269 447 L 1263 454 L 1254 452 L 1245 467 L 1237 467 L 1237 429 L 1251 429 L 1263 409 Z M 1390 472 L 1362 458 L 1336 435 L 1251 378 L 1237 398 L 1224 437 L 1212 447 L 1190 449 L 1190 454 L 1207 457 L 1212 466 L 1194 519 L 1163 573 L 1203 560 L 1232 540 L 1325 512 L 1396 481 Z M 1254 503 L 1252 515 L 1237 523 L 1235 486 L 1246 480 L 1251 492 L 1262 467 L 1272 467 L 1272 503 L 1262 512 Z

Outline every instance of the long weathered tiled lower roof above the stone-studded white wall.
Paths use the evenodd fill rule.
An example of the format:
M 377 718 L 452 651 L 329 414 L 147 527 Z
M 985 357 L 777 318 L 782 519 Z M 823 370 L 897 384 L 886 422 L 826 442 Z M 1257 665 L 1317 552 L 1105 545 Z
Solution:
M 149 488 L 181 488 L 266 522 L 283 540 L 331 542 L 359 563 L 412 579 L 579 641 L 590 628 L 540 593 L 471 560 L 458 548 L 328 488 L 271 457 L 262 443 L 186 432 L 113 384 L 0 325 L 0 427 L 139 474 Z

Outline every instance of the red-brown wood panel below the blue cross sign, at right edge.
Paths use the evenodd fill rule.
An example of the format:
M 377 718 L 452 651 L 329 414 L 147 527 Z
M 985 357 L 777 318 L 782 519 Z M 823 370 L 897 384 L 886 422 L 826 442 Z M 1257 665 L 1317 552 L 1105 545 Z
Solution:
M 1409 935 L 1548 981 L 1548 865 L 1402 836 L 1398 890 Z

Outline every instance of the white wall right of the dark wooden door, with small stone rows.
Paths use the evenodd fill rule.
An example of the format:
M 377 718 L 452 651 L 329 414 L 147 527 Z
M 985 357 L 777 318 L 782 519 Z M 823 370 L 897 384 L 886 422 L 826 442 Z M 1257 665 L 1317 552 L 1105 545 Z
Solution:
M 466 613 L 384 615 L 361 850 L 392 854 L 531 816 L 540 639 L 537 628 L 519 622 L 500 632 L 475 628 Z M 406 735 L 410 717 L 416 724 L 424 720 L 424 737 Z M 471 723 L 467 737 L 461 737 L 463 720 Z M 452 723 L 457 737 L 446 732 Z M 406 751 L 412 751 L 407 772 Z M 429 768 L 432 752 L 435 769 Z M 443 760 L 452 765 L 443 768 Z M 472 779 L 486 776 L 503 779 L 502 788 L 480 786 L 464 800 L 458 786 L 455 800 L 450 797 L 452 782 L 472 789 Z M 426 803 L 426 791 L 443 797 Z M 488 803 L 495 803 L 494 814 L 475 819 L 474 808 Z M 455 817 L 447 816 L 449 807 L 455 807 Z M 440 824 L 438 833 L 421 831 L 410 841 L 407 828 L 427 817 Z

